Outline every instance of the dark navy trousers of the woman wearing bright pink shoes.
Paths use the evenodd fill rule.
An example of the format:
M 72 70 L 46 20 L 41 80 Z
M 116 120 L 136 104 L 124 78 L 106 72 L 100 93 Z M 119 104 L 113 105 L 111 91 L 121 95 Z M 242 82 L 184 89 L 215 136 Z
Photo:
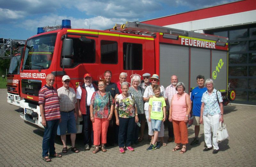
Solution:
M 119 147 L 131 146 L 132 137 L 134 133 L 135 117 L 121 118 L 119 117 L 119 135 L 118 145 Z

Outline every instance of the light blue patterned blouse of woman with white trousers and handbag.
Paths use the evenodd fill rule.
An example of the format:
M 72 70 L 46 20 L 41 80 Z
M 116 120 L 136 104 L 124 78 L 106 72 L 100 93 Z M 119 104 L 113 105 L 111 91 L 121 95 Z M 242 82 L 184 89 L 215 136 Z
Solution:
M 204 92 L 201 102 L 204 103 L 203 115 L 215 115 L 220 113 L 220 106 L 218 104 L 216 89 L 213 89 L 212 94 L 209 95 L 208 91 Z M 217 92 L 219 102 L 222 102 L 222 97 L 220 91 Z

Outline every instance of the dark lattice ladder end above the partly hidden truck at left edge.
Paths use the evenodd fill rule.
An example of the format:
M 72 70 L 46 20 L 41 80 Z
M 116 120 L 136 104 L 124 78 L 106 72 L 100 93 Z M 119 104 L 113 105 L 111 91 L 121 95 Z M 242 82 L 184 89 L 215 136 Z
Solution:
M 0 38 L 0 58 L 11 59 L 20 52 L 20 46 L 25 46 L 26 40 Z

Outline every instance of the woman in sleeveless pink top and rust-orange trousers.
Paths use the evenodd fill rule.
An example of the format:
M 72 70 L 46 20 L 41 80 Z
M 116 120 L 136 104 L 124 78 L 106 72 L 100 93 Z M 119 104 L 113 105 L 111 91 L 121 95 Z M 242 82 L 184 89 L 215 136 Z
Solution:
M 172 96 L 169 121 L 173 124 L 174 142 L 176 147 L 172 151 L 180 150 L 180 154 L 183 154 L 187 150 L 188 143 L 188 115 L 191 110 L 191 100 L 189 95 L 185 93 L 185 85 L 182 82 L 176 85 L 177 94 Z M 180 146 L 182 144 L 182 148 Z

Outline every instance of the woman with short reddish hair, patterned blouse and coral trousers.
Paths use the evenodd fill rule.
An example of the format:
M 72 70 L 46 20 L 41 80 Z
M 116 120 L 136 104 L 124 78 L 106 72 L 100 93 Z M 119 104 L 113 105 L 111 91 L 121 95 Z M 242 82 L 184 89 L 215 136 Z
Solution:
M 105 88 L 107 82 L 104 79 L 100 79 L 99 91 L 95 91 L 92 94 L 91 105 L 90 105 L 90 114 L 93 128 L 93 144 L 95 145 L 93 154 L 96 154 L 101 150 L 106 152 L 107 149 L 105 144 L 107 143 L 107 131 L 109 121 L 112 119 L 114 112 L 114 103 L 113 98 L 110 92 L 106 92 Z

